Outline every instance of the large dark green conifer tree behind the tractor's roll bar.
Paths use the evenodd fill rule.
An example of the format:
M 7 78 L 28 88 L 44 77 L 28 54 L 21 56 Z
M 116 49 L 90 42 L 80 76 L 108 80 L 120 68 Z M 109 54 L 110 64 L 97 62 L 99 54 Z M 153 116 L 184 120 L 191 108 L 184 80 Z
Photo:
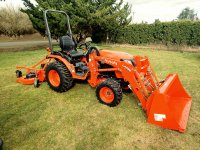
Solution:
M 33 5 L 30 0 L 23 0 L 25 12 L 33 23 L 33 27 L 45 35 L 43 11 L 46 9 L 64 10 L 70 17 L 72 31 L 82 37 L 92 35 L 95 42 L 105 41 L 107 33 L 110 39 L 115 39 L 116 32 L 122 26 L 131 22 L 131 7 L 123 0 L 36 0 Z M 62 15 L 49 14 L 49 24 L 52 35 L 58 38 L 65 34 L 66 21 Z

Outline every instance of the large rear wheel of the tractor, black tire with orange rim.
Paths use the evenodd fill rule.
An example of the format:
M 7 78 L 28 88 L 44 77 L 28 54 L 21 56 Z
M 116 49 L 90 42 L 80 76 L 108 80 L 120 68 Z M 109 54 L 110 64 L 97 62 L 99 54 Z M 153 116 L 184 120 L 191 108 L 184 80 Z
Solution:
M 56 92 L 66 92 L 74 86 L 74 79 L 70 71 L 61 62 L 50 63 L 46 68 L 45 75 L 48 85 Z

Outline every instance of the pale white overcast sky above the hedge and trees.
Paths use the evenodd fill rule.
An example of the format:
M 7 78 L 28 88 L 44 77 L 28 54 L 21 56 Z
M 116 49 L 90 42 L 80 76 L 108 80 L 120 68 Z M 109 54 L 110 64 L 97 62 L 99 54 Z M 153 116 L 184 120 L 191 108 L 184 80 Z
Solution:
M 32 0 L 34 1 L 34 0 Z M 171 21 L 176 19 L 181 10 L 185 7 L 190 7 L 198 13 L 200 17 L 200 0 L 124 0 L 132 5 L 134 12 L 133 23 L 147 21 L 154 22 L 155 19 L 161 21 Z M 0 2 L 0 6 L 5 6 L 6 3 L 22 6 L 21 0 L 6 0 Z

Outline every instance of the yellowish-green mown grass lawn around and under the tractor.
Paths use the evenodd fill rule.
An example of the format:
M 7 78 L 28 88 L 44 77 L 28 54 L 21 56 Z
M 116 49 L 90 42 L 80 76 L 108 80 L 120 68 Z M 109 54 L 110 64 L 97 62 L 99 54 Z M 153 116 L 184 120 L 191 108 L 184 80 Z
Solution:
M 0 53 L 0 137 L 5 149 L 199 149 L 200 54 L 107 46 L 146 55 L 159 79 L 178 73 L 193 102 L 184 134 L 148 124 L 132 93 L 120 105 L 100 104 L 95 89 L 77 83 L 66 93 L 47 83 L 15 82 L 15 66 L 45 57 L 45 50 Z

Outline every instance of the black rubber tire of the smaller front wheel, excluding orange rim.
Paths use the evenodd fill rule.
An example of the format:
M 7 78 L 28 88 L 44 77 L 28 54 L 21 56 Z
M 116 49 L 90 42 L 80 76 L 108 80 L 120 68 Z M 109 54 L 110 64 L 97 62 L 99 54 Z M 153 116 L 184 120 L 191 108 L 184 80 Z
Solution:
M 103 100 L 101 100 L 99 92 L 100 92 L 100 89 L 103 87 L 109 87 L 114 92 L 115 98 L 111 103 L 105 103 Z M 99 102 L 103 103 L 105 105 L 108 105 L 110 107 L 117 106 L 122 100 L 122 95 L 123 95 L 122 88 L 121 88 L 120 84 L 113 79 L 106 79 L 105 81 L 102 81 L 100 84 L 98 84 L 96 87 L 96 96 L 97 96 L 97 99 L 99 100 Z

